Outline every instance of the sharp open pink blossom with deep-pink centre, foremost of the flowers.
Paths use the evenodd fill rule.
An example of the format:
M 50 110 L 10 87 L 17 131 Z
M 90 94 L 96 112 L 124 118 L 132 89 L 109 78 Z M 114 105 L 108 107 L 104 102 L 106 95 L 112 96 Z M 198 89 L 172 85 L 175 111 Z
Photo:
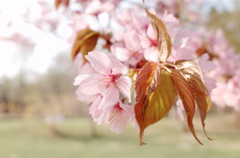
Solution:
M 127 68 L 114 56 L 92 51 L 86 56 L 95 70 L 80 84 L 80 91 L 86 95 L 100 93 L 103 98 L 99 109 L 106 109 L 119 99 L 119 91 L 130 100 L 131 79 L 127 76 Z

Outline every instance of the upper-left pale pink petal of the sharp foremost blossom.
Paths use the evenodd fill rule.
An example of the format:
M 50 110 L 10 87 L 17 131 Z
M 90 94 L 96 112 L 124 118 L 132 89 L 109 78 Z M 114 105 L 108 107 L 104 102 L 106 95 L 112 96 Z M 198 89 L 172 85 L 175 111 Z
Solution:
M 92 51 L 85 56 L 92 67 L 101 74 L 108 74 L 111 70 L 111 60 L 103 52 Z

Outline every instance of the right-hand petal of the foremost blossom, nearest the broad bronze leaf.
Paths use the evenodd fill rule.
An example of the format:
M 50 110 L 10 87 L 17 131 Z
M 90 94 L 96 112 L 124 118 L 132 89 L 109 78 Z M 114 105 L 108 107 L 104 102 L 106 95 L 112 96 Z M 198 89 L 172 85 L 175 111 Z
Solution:
M 129 77 L 121 76 L 116 81 L 117 87 L 119 88 L 120 92 L 129 99 L 129 102 L 131 102 L 131 84 L 132 80 Z

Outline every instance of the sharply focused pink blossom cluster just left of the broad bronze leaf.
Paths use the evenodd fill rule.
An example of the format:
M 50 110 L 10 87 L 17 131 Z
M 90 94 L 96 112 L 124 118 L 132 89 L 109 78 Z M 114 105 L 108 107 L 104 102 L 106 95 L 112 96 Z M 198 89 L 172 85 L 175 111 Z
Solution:
M 78 99 L 91 103 L 89 113 L 95 122 L 109 124 L 111 131 L 121 133 L 129 120 L 135 121 L 133 106 L 120 100 L 122 95 L 131 101 L 128 69 L 116 57 L 103 52 L 89 52 L 86 58 L 94 72 L 76 77 Z

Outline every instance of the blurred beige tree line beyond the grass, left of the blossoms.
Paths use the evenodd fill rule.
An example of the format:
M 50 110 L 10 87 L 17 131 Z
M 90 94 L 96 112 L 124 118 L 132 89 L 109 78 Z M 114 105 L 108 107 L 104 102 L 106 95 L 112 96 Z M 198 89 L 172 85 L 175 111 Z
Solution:
M 44 74 L 25 66 L 25 58 L 18 58 L 17 62 L 20 62 L 20 68 L 15 77 L 0 78 L 0 113 L 26 117 L 55 113 L 87 115 L 86 106 L 81 106 L 74 93 L 76 87 L 72 83 L 76 69 L 71 67 L 72 61 L 67 53 L 60 52 Z

